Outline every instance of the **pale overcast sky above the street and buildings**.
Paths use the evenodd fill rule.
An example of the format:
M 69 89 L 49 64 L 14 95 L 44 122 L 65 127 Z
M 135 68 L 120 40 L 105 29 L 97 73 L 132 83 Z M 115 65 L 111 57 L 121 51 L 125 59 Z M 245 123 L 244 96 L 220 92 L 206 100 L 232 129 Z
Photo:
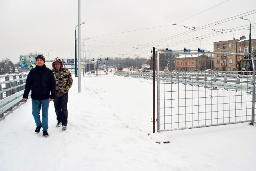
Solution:
M 0 60 L 74 58 L 78 0 L 0 0 L 0 16 Z M 213 51 L 213 42 L 248 37 L 241 16 L 255 38 L 255 0 L 81 0 L 81 49 L 86 58 L 149 57 L 153 46 Z

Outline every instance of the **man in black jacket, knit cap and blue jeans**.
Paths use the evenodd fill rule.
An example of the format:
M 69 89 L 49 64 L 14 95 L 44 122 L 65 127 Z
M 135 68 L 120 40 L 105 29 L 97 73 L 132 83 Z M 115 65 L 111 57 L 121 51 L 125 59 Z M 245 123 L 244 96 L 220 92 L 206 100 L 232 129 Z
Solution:
M 43 55 L 36 57 L 36 67 L 31 69 L 26 79 L 23 101 L 28 101 L 28 94 L 31 90 L 32 115 L 36 122 L 36 133 L 43 128 L 43 136 L 48 137 L 48 108 L 49 102 L 54 100 L 56 83 L 52 71 L 44 65 Z M 50 100 L 49 100 L 50 99 Z M 40 110 L 42 106 L 42 122 L 40 119 Z

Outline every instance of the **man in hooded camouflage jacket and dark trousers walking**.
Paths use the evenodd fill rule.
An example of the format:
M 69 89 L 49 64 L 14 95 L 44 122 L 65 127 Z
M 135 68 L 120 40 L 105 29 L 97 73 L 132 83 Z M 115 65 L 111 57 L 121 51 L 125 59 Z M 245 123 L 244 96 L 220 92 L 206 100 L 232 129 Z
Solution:
M 52 68 L 52 73 L 56 81 L 56 97 L 53 100 L 58 121 L 56 127 L 62 125 L 62 129 L 66 130 L 68 124 L 68 90 L 73 84 L 73 79 L 70 71 L 63 67 L 58 57 L 54 59 Z

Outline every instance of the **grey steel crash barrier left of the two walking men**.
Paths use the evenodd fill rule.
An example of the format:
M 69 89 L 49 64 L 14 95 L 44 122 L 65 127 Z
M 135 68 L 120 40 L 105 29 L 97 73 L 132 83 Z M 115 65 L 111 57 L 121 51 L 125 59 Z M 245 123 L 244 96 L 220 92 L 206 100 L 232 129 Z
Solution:
M 28 73 L 0 75 L 0 121 L 23 104 Z

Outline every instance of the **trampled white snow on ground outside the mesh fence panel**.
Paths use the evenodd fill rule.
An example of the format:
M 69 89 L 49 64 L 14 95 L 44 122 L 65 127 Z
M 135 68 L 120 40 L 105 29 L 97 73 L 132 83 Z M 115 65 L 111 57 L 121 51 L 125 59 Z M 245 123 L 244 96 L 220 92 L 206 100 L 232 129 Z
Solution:
M 0 122 L 1 171 L 244 171 L 254 170 L 255 126 L 248 123 L 152 133 L 152 81 L 74 77 L 68 129 L 56 128 L 49 107 L 49 137 L 35 134 L 32 102 Z

